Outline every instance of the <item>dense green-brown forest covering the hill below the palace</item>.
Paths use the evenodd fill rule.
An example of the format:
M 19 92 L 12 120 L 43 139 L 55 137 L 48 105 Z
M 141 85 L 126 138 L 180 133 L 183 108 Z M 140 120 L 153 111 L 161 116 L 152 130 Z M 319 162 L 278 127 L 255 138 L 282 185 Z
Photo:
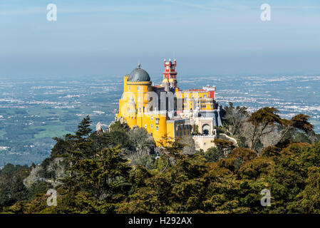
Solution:
M 217 132 L 237 145 L 218 138 L 207 151 L 191 137 L 156 147 L 143 128 L 119 122 L 92 133 L 87 116 L 74 134 L 54 138 L 41 165 L 0 171 L 0 212 L 319 213 L 320 137 L 309 116 L 287 120 L 276 108 L 247 113 L 232 103 L 223 116 Z

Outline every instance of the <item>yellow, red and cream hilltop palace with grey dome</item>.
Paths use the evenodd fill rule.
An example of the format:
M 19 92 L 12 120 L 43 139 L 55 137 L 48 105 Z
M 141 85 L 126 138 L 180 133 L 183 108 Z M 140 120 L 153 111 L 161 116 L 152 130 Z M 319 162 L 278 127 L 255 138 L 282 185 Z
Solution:
M 153 86 L 147 71 L 135 68 L 123 78 L 123 96 L 116 119 L 130 128 L 145 128 L 158 144 L 187 135 L 198 148 L 206 150 L 217 137 L 215 127 L 222 126 L 221 106 L 215 100 L 215 86 L 180 90 L 176 61 L 164 61 L 163 81 Z

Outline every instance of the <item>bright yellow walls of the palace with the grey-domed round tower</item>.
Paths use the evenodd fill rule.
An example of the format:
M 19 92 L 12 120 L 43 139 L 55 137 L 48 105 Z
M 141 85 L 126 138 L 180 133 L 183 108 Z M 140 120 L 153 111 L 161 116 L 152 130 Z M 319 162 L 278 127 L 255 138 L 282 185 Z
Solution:
M 166 64 L 166 63 L 165 63 Z M 168 63 L 167 63 L 168 64 Z M 170 63 L 171 64 L 171 63 Z M 130 128 L 145 128 L 153 136 L 157 145 L 162 139 L 177 140 L 187 135 L 192 135 L 190 118 L 168 115 L 168 110 L 157 110 L 157 107 L 150 107 L 150 93 L 156 90 L 164 91 L 169 88 L 175 93 L 177 103 L 182 104 L 180 113 L 194 110 L 213 110 L 214 99 L 207 98 L 206 90 L 180 90 L 176 85 L 175 78 L 162 81 L 161 86 L 152 86 L 148 73 L 138 66 L 130 76 L 123 78 L 123 96 L 119 100 L 118 120 L 127 123 Z M 176 111 L 178 113 L 178 111 Z

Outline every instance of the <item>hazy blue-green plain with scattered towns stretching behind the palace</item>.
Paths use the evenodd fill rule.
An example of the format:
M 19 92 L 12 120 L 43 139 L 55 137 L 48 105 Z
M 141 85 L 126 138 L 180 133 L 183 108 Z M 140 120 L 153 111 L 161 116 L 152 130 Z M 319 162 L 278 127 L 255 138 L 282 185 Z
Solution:
M 154 83 L 161 83 L 162 76 L 152 77 Z M 316 133 L 320 132 L 320 76 L 180 75 L 179 83 L 181 89 L 217 85 L 215 99 L 220 105 L 232 102 L 249 111 L 273 106 L 282 118 L 310 115 Z M 93 125 L 110 124 L 123 93 L 123 76 L 6 78 L 1 80 L 0 93 L 0 167 L 9 162 L 31 165 L 48 157 L 52 138 L 76 130 L 85 115 L 91 115 Z

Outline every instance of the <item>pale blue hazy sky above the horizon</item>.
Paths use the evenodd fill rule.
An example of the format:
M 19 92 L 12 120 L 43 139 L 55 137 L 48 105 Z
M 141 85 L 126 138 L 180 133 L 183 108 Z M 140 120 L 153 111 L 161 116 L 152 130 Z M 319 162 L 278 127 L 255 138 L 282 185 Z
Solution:
M 2 78 L 320 74 L 319 0 L 0 0 L 0 35 Z

